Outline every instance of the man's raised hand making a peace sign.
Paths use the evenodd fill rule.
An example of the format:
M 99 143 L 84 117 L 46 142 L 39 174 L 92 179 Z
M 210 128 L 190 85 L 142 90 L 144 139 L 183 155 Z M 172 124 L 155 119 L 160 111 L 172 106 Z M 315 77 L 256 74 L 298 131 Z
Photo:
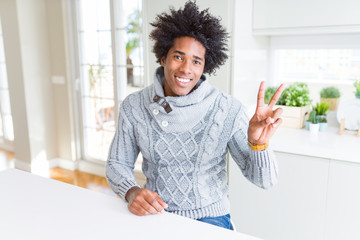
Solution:
M 257 106 L 254 116 L 249 121 L 248 140 L 253 144 L 264 144 L 270 140 L 276 129 L 282 123 L 282 119 L 279 118 L 282 109 L 278 108 L 272 110 L 276 102 L 278 101 L 281 93 L 284 91 L 284 84 L 276 90 L 274 96 L 271 98 L 269 105 L 264 102 L 265 94 L 265 82 L 261 82 Z

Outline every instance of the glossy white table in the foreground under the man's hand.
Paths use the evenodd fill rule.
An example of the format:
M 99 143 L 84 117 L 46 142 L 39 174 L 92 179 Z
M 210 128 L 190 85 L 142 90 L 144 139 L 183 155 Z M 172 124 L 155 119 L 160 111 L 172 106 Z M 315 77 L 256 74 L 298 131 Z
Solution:
M 0 172 L 0 239 L 258 238 L 170 213 L 138 217 L 120 198 L 9 169 Z

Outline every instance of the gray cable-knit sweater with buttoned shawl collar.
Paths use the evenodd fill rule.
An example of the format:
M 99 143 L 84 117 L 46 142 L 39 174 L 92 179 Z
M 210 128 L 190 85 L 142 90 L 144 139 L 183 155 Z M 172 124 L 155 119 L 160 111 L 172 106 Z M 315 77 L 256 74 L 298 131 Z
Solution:
M 193 219 L 229 213 L 228 150 L 252 183 L 261 188 L 275 184 L 273 152 L 248 146 L 244 107 L 204 79 L 186 96 L 165 97 L 160 67 L 154 84 L 123 101 L 106 167 L 109 185 L 122 198 L 138 186 L 133 170 L 139 151 L 145 188 L 159 194 L 169 206 L 166 211 Z M 172 111 L 167 113 L 155 96 Z

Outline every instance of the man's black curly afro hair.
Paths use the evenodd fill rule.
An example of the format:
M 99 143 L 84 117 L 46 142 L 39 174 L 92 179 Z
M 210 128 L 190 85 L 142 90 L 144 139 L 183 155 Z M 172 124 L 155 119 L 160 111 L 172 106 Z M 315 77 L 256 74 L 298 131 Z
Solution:
M 220 24 L 221 19 L 212 16 L 208 10 L 199 11 L 195 2 L 188 1 L 183 9 L 170 8 L 169 14 L 157 15 L 151 23 L 155 29 L 150 38 L 155 41 L 153 52 L 158 63 L 179 37 L 192 37 L 205 47 L 204 73 L 215 73 L 215 69 L 225 63 L 229 35 Z

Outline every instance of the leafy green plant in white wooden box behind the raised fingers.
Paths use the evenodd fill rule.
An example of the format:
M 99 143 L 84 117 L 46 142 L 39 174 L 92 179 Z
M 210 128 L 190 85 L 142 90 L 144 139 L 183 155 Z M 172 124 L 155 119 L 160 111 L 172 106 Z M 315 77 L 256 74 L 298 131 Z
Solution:
M 276 91 L 276 87 L 268 87 L 265 91 L 264 101 L 269 103 Z M 306 83 L 294 83 L 286 87 L 280 96 L 277 106 L 283 109 L 283 127 L 303 128 L 305 117 L 311 107 L 309 88 Z

